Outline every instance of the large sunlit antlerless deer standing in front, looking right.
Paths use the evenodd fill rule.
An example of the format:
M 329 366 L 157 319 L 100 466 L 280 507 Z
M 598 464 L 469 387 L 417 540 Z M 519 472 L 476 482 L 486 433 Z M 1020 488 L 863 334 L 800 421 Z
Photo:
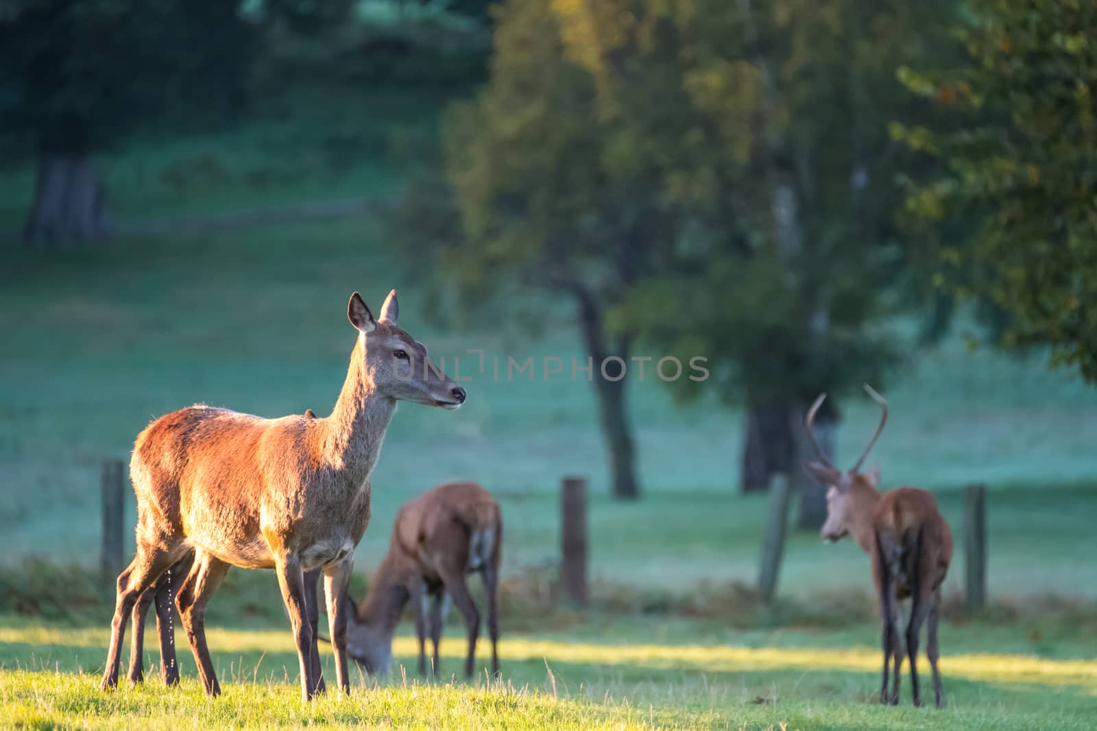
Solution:
M 205 640 L 205 606 L 229 566 L 274 569 L 305 700 L 321 687 L 305 574 L 323 571 L 336 677 L 341 693 L 350 693 L 347 583 L 353 549 L 370 522 L 370 475 L 385 432 L 398 401 L 452 410 L 466 397 L 430 362 L 426 346 L 397 327 L 398 315 L 395 290 L 380 319 L 359 293 L 351 295 L 347 317 L 358 336 L 325 419 L 263 419 L 195 404 L 160 416 L 137 435 L 129 462 L 137 551 L 117 578 L 101 688 L 117 686 L 122 639 L 142 595 L 159 591 L 163 573 L 193 556 L 176 604 L 208 696 L 220 687 Z

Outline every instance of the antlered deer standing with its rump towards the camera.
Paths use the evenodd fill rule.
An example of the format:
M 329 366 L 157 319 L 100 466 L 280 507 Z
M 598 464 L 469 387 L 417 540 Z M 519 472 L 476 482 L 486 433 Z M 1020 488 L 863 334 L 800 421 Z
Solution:
M 872 579 L 880 595 L 880 612 L 883 617 L 884 671 L 880 703 L 898 705 L 900 670 L 903 665 L 898 602 L 909 597 L 906 651 L 911 659 L 914 705 L 921 705 L 918 696 L 918 633 L 926 623 L 926 654 L 934 670 L 934 697 L 937 707 L 941 708 L 945 698 L 941 693 L 941 676 L 937 671 L 937 624 L 941 616 L 941 584 L 952 560 L 952 534 L 937 510 L 937 500 L 929 492 L 917 488 L 896 488 L 880 493 L 877 491 L 880 470 L 863 473 L 859 471 L 887 423 L 887 402 L 868 384 L 864 385 L 864 390 L 880 404 L 883 413 L 880 426 L 861 458 L 849 471 L 842 472 L 830 464 L 819 448 L 812 431 L 812 422 L 826 399 L 826 393 L 821 393 L 807 411 L 806 419 L 807 435 L 819 461 L 805 462 L 804 467 L 815 479 L 827 486 L 827 516 L 823 524 L 823 538 L 834 542 L 851 535 L 872 557 Z M 893 654 L 895 677 L 889 696 L 887 663 Z

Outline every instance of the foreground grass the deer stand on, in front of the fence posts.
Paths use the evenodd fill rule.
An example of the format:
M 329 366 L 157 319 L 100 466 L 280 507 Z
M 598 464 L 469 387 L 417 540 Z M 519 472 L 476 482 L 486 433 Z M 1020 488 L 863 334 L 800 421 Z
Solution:
M 414 667 L 407 633 L 395 652 Z M 1097 711 L 1097 666 L 1079 659 L 1093 656 L 1093 636 L 1063 642 L 1067 656 L 1049 658 L 1019 653 L 982 625 L 942 630 L 943 711 L 874 703 L 879 650 L 869 628 L 821 637 L 606 618 L 564 632 L 505 633 L 501 683 L 425 684 L 402 669 L 378 684 L 355 672 L 349 700 L 329 696 L 309 706 L 297 699 L 296 659 L 283 628 L 211 629 L 225 690 L 213 703 L 202 696 L 189 656 L 181 656 L 181 688 L 152 678 L 100 693 L 105 640 L 102 626 L 45 628 L 4 617 L 0 717 L 24 728 L 1083 729 Z M 462 648 L 455 633 L 443 640 L 443 676 L 459 666 Z M 325 662 L 330 678 L 328 655 Z M 928 670 L 925 658 L 921 666 Z M 903 693 L 908 700 L 908 685 Z

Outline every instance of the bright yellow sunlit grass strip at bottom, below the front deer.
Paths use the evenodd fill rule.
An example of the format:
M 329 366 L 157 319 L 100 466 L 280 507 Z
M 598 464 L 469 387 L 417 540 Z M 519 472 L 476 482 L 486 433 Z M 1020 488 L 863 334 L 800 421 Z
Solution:
M 178 689 L 148 684 L 138 692 L 101 694 L 87 677 L 0 672 L 0 710 L 15 728 L 405 728 L 405 729 L 614 729 L 648 728 L 654 709 L 556 698 L 502 684 L 464 688 L 410 684 L 358 690 L 350 698 L 328 694 L 304 704 L 282 683 L 228 686 L 207 703 L 194 682 Z M 666 713 L 660 712 L 661 719 Z M 690 716 L 677 713 L 678 719 Z M 668 719 L 670 728 L 685 726 Z

